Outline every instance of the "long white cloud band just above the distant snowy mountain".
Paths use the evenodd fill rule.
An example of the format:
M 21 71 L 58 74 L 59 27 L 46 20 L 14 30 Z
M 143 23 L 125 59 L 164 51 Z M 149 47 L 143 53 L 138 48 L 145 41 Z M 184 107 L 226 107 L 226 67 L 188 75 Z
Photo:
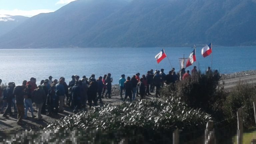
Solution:
M 1 15 L 12 15 L 12 16 L 21 15 L 21 16 L 32 17 L 40 13 L 49 13 L 49 12 L 54 12 L 54 11 L 49 9 L 37 9 L 37 10 L 28 10 L 28 11 L 19 10 L 19 9 L 14 9 L 14 10 L 0 9 L 0 16 Z

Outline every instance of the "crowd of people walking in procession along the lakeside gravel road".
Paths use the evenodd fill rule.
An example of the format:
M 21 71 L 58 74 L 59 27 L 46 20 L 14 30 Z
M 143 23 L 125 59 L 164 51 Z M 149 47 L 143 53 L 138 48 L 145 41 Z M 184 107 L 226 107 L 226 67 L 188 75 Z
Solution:
M 193 75 L 197 75 L 196 66 L 192 70 Z M 132 77 L 128 76 L 127 79 L 122 74 L 119 79 L 120 98 L 126 101 L 129 97 L 129 100 L 133 101 L 136 97 L 140 97 L 142 100 L 145 96 L 151 95 L 155 88 L 155 97 L 159 97 L 164 83 L 167 85 L 174 84 L 190 77 L 189 71 L 185 72 L 185 69 L 181 69 L 177 75 L 175 68 L 169 71 L 167 75 L 164 73 L 164 69 L 155 70 L 155 72 L 151 69 L 141 78 L 140 73 Z M 32 77 L 30 81 L 24 80 L 21 86 L 15 86 L 14 82 L 9 82 L 8 87 L 4 88 L 3 92 L 0 88 L 0 97 L 3 97 L 0 113 L 3 114 L 3 117 L 8 118 L 8 115 L 12 115 L 13 107 L 14 113 L 18 113 L 17 123 L 22 124 L 21 120 L 28 118 L 28 111 L 31 112 L 32 118 L 36 117 L 34 112 L 37 111 L 40 120 L 42 114 L 52 115 L 63 112 L 64 102 L 66 102 L 66 106 L 73 109 L 74 113 L 77 113 L 79 109 L 86 107 L 87 101 L 89 108 L 91 108 L 92 102 L 94 106 L 97 106 L 98 101 L 100 104 L 103 103 L 103 98 L 111 98 L 113 79 L 110 73 L 103 77 L 100 76 L 98 79 L 95 78 L 94 74 L 89 79 L 86 76 L 80 79 L 78 75 L 73 75 L 69 83 L 65 82 L 64 77 L 60 77 L 59 80 L 52 80 L 52 78 L 49 76 L 49 79 L 42 80 L 38 86 L 36 85 L 36 78 Z M 0 84 L 1 82 L 0 79 Z M 33 103 L 35 103 L 37 110 L 33 109 Z M 6 106 L 6 110 L 3 111 Z

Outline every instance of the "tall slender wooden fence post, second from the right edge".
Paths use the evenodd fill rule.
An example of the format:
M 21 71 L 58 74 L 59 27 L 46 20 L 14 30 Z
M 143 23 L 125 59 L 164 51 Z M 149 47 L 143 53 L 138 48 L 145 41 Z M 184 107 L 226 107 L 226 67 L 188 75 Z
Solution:
M 237 144 L 243 143 L 243 108 L 237 110 Z

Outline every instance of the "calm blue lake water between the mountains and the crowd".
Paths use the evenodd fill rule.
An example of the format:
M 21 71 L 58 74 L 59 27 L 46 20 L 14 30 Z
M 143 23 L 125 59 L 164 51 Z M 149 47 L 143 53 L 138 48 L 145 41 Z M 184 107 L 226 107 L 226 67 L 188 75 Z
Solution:
M 203 58 L 202 47 L 196 50 L 197 67 L 205 71 L 211 66 L 212 56 Z M 54 49 L 0 49 L 0 79 L 3 83 L 13 81 L 21 85 L 23 80 L 31 77 L 40 84 L 42 79 L 65 77 L 71 80 L 72 75 L 96 78 L 111 73 L 113 84 L 118 84 L 121 74 L 132 76 L 135 73 L 146 74 L 150 69 L 171 70 L 168 58 L 157 64 L 155 55 L 162 48 L 54 48 Z M 172 66 L 179 71 L 179 58 L 188 57 L 193 51 L 190 47 L 167 47 L 165 52 Z M 213 66 L 221 73 L 233 73 L 256 69 L 256 46 L 214 47 Z M 195 63 L 193 66 L 196 65 Z M 193 66 L 186 70 L 193 69 Z

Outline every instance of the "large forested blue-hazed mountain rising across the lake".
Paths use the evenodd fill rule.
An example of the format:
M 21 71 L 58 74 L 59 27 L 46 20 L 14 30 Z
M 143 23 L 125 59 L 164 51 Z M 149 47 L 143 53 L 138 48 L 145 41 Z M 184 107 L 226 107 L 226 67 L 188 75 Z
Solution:
M 77 0 L 0 37 L 8 47 L 255 45 L 256 0 Z

